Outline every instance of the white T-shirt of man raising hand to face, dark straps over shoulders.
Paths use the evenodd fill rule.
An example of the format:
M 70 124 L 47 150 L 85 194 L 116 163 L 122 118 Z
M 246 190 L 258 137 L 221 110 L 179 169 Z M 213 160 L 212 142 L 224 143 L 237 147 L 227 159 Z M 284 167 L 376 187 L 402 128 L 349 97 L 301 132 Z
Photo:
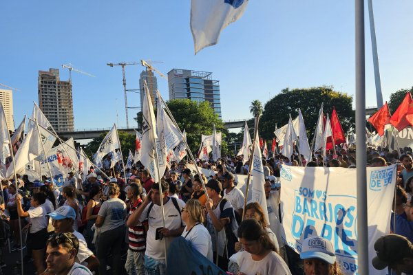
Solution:
M 180 208 L 185 207 L 184 201 L 177 199 Z M 142 214 L 140 215 L 139 221 L 145 221 L 148 217 L 148 209 L 151 206 L 151 203 L 147 205 L 145 210 L 143 210 Z M 181 215 L 178 212 L 178 209 L 173 205 L 172 199 L 169 198 L 167 203 L 164 204 L 164 211 L 165 211 L 165 228 L 169 230 L 178 229 L 182 225 L 185 225 L 184 222 L 181 220 Z M 182 221 L 182 223 L 181 223 Z M 147 243 L 146 243 L 146 251 L 145 255 L 156 259 L 156 260 L 165 260 L 165 245 L 164 241 L 167 241 L 167 245 L 173 241 L 173 237 L 163 237 L 162 240 L 156 240 L 156 228 L 163 228 L 162 224 L 162 208 L 157 204 L 153 203 L 151 208 L 151 212 L 149 212 L 148 218 L 148 225 L 149 230 L 147 232 Z

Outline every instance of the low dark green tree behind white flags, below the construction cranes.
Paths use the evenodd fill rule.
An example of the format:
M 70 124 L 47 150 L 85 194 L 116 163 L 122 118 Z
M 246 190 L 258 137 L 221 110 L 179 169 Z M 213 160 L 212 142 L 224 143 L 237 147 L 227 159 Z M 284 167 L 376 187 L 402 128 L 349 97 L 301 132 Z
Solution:
M 85 148 L 83 149 L 89 157 L 89 159 L 92 159 L 93 155 L 98 151 L 98 148 L 100 146 L 100 143 L 102 143 L 102 140 L 105 138 L 109 131 L 105 133 L 101 133 L 99 137 L 95 137 L 91 142 L 89 142 Z M 125 162 L 126 165 L 126 159 L 127 156 L 129 155 L 129 150 L 134 152 L 135 151 L 135 146 L 136 146 L 136 135 L 131 135 L 130 133 L 127 133 L 125 131 L 118 131 L 119 135 L 119 141 L 120 141 L 120 147 L 122 147 L 122 155 L 123 155 L 123 161 Z

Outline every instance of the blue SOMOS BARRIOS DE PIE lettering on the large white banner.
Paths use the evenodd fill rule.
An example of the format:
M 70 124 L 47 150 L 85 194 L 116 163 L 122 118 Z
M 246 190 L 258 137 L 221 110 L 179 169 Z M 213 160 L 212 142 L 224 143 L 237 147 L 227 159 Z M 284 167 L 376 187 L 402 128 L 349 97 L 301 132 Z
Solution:
M 327 197 L 330 197 L 328 201 Z M 290 230 L 295 239 L 302 240 L 317 234 L 331 241 L 337 256 L 357 259 L 355 197 L 327 195 L 324 190 L 300 187 L 295 190 L 294 201 Z M 319 231 L 316 230 L 316 225 Z M 301 251 L 299 241 L 289 245 Z M 346 269 L 357 270 L 357 265 L 347 263 Z

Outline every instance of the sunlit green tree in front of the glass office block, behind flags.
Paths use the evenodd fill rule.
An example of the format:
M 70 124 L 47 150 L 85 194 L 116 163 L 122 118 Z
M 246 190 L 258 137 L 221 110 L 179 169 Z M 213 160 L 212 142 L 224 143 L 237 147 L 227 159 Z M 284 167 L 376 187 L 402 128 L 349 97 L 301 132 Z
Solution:
M 227 146 L 224 137 L 226 137 L 228 130 L 224 128 L 224 123 L 218 118 L 218 114 L 209 106 L 209 102 L 176 99 L 169 100 L 167 105 L 181 131 L 185 129 L 187 132 L 187 142 L 194 156 L 200 148 L 201 135 L 211 135 L 213 124 L 215 124 L 217 132 L 222 132 L 221 153 L 222 155 L 226 153 Z

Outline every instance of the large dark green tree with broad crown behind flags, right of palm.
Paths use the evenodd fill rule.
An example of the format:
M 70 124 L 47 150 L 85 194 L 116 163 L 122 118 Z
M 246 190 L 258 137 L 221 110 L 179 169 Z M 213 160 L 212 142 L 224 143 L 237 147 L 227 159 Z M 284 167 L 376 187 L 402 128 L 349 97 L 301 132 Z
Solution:
M 352 97 L 348 94 L 334 91 L 328 86 L 293 90 L 286 88 L 266 102 L 260 120 L 260 134 L 266 140 L 271 140 L 274 137 L 275 123 L 278 127 L 284 126 L 288 123 L 288 114 L 294 119 L 298 115 L 298 109 L 301 109 L 308 140 L 311 142 L 321 102 L 324 102 L 324 113 L 331 114 L 332 107 L 335 107 L 345 133 L 354 126 Z

